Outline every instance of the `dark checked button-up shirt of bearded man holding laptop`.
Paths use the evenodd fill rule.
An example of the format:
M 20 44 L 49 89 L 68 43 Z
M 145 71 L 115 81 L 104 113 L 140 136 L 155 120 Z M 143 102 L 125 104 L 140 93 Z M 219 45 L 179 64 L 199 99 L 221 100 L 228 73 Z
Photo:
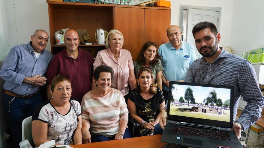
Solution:
M 247 106 L 238 122 L 247 129 L 260 118 L 264 97 L 259 89 L 252 65 L 249 61 L 230 54 L 224 49 L 213 63 L 206 62 L 203 57 L 195 60 L 190 65 L 184 82 L 234 86 L 233 120 L 235 120 L 241 94 Z

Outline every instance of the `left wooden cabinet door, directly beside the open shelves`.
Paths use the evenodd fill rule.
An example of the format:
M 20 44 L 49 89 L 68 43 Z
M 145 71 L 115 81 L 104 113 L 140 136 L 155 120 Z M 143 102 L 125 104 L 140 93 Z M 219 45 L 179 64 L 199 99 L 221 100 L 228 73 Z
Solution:
M 116 29 L 124 36 L 123 49 L 130 51 L 133 61 L 144 42 L 144 9 L 141 8 L 115 8 Z

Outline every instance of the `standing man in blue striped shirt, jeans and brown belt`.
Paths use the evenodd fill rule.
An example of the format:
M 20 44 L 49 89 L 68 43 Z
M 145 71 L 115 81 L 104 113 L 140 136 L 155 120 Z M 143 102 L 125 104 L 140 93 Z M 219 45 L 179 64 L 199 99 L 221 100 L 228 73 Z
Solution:
M 49 35 L 36 30 L 28 44 L 11 48 L 0 70 L 4 83 L 4 105 L 13 135 L 14 147 L 22 141 L 22 120 L 33 115 L 42 102 L 41 86 L 46 84 L 46 73 L 52 54 L 46 51 Z

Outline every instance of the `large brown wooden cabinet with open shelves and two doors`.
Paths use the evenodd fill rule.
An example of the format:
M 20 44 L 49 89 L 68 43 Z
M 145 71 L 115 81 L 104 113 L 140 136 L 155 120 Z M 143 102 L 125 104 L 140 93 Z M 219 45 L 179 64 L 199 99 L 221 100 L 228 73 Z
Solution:
M 48 1 L 51 52 L 56 54 L 65 45 L 55 45 L 55 31 L 73 28 L 87 29 L 90 42 L 95 42 L 97 28 L 117 29 L 124 35 L 122 48 L 130 51 L 133 60 L 147 41 L 161 45 L 168 42 L 166 29 L 170 26 L 170 8 L 123 6 L 114 4 L 89 4 Z M 95 57 L 104 45 L 79 45 Z

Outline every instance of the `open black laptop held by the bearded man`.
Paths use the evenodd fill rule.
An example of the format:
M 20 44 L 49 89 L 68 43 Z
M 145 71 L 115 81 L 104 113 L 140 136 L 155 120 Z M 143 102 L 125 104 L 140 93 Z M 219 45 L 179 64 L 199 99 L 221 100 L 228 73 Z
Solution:
M 161 141 L 197 148 L 243 148 L 233 126 L 233 86 L 170 81 Z

